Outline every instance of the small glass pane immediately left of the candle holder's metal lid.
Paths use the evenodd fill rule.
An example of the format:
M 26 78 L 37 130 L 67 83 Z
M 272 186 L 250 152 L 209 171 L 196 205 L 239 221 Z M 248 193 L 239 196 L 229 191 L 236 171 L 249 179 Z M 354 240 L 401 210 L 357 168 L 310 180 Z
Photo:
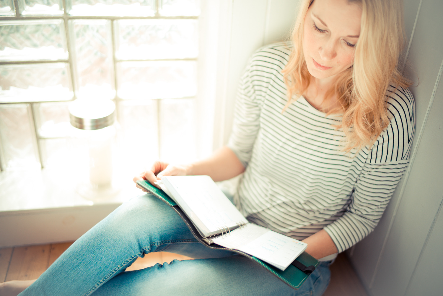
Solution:
M 39 103 L 34 105 L 38 131 L 41 137 L 68 136 L 72 126 L 67 102 Z

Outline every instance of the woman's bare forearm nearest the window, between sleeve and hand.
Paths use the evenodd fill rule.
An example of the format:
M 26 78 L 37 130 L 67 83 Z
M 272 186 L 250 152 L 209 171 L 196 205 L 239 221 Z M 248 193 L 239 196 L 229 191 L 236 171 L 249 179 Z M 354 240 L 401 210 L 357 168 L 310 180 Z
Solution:
M 231 179 L 245 171 L 237 155 L 226 146 L 189 165 L 187 175 L 209 175 L 214 181 Z

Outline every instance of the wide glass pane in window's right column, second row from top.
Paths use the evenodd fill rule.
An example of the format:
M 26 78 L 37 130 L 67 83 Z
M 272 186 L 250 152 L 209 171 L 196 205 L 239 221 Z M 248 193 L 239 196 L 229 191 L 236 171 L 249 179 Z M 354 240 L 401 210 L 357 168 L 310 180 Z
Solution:
M 195 19 L 119 20 L 116 57 L 120 60 L 195 58 L 198 54 Z

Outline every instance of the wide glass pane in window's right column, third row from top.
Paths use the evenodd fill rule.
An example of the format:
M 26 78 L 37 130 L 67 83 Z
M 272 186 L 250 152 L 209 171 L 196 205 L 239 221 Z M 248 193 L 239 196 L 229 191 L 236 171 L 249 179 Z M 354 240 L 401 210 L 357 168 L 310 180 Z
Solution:
M 197 91 L 196 62 L 119 62 L 117 83 L 123 99 L 192 97 Z

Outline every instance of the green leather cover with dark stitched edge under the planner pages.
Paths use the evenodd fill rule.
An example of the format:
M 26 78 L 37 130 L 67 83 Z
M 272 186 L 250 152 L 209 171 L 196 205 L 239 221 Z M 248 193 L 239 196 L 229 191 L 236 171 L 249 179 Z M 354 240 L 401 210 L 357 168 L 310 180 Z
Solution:
M 281 270 L 276 268 L 273 265 L 270 265 L 264 261 L 261 261 L 260 259 L 253 257 L 247 253 L 241 252 L 237 249 L 228 249 L 221 245 L 217 244 L 211 244 L 209 245 L 206 241 L 204 241 L 204 238 L 198 233 L 198 230 L 195 228 L 195 226 L 192 224 L 189 218 L 187 218 L 186 214 L 183 213 L 183 210 L 180 209 L 180 207 L 175 203 L 169 195 L 167 195 L 163 190 L 153 186 L 148 181 L 137 181 L 137 184 L 140 185 L 140 187 L 143 187 L 146 191 L 149 191 L 153 195 L 155 195 L 157 198 L 163 200 L 163 202 L 167 203 L 169 206 L 174 208 L 174 210 L 182 217 L 183 221 L 186 222 L 187 226 L 191 230 L 192 234 L 194 234 L 195 238 L 198 239 L 203 245 L 206 245 L 210 249 L 225 249 L 230 250 L 235 253 L 239 253 L 245 257 L 248 257 L 249 259 L 255 261 L 257 264 L 262 266 L 264 269 L 268 270 L 270 273 L 272 273 L 274 276 L 278 277 L 280 280 L 283 280 L 286 284 L 291 286 L 292 288 L 298 289 L 301 284 L 310 276 L 308 273 L 304 273 L 300 269 L 296 268 L 294 265 L 289 265 L 288 268 L 285 270 Z M 295 260 L 303 263 L 306 266 L 314 265 L 317 267 L 319 265 L 319 261 L 309 255 L 306 252 L 303 252 L 300 254 L 299 257 L 297 257 Z

